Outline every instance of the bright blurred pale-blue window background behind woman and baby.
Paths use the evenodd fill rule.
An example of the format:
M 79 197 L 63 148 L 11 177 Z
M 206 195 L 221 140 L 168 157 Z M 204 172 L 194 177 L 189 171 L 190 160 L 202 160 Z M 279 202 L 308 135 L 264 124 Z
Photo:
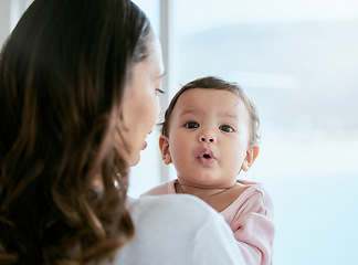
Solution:
M 1 0 L 1 43 L 31 2 Z M 161 40 L 162 110 L 181 85 L 207 75 L 238 82 L 257 106 L 260 155 L 239 178 L 273 197 L 274 264 L 358 264 L 358 1 L 135 2 Z M 134 198 L 176 178 L 158 136 L 131 170 Z

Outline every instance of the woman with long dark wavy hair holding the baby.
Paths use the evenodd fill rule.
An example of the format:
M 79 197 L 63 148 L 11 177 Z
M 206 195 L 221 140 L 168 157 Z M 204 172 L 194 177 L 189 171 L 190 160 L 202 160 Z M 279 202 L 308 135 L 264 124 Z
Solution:
M 196 199 L 127 202 L 164 75 L 138 7 L 35 0 L 0 60 L 0 264 L 240 262 Z

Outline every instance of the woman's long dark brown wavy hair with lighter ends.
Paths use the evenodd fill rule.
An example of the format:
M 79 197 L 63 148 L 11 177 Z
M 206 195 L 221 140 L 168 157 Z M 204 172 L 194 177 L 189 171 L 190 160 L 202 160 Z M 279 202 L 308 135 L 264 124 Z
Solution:
M 129 0 L 34 0 L 0 55 L 0 264 L 84 264 L 134 235 L 114 135 L 150 24 Z M 125 151 L 130 151 L 126 145 Z M 94 176 L 104 190 L 92 192 Z

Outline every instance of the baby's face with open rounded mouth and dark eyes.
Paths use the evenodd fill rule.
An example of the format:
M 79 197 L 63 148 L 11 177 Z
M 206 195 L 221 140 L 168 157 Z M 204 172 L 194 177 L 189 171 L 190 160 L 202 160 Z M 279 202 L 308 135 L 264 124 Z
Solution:
M 180 183 L 231 187 L 240 168 L 246 170 L 245 163 L 251 163 L 249 131 L 248 110 L 234 93 L 208 88 L 185 92 L 169 125 L 169 152 Z

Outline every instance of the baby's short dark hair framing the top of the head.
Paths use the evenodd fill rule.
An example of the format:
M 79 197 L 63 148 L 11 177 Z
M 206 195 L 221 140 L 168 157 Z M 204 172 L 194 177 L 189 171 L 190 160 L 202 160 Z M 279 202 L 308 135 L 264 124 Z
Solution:
M 243 93 L 242 88 L 234 82 L 227 82 L 222 78 L 215 77 L 215 76 L 206 76 L 202 78 L 198 78 L 194 81 L 191 81 L 187 83 L 185 86 L 180 88 L 180 91 L 177 92 L 177 94 L 171 99 L 166 114 L 165 114 L 165 120 L 159 124 L 161 126 L 161 134 L 168 136 L 169 130 L 169 123 L 170 123 L 170 116 L 171 113 L 180 97 L 181 94 L 183 94 L 186 91 L 192 89 L 192 88 L 208 88 L 208 89 L 218 89 L 218 91 L 230 91 L 234 94 L 236 94 L 242 103 L 244 104 L 245 108 L 248 109 L 249 117 L 250 117 L 250 135 L 251 144 L 259 144 L 260 141 L 260 135 L 259 135 L 259 126 L 260 126 L 260 119 L 259 114 L 255 105 L 249 99 L 249 97 Z

